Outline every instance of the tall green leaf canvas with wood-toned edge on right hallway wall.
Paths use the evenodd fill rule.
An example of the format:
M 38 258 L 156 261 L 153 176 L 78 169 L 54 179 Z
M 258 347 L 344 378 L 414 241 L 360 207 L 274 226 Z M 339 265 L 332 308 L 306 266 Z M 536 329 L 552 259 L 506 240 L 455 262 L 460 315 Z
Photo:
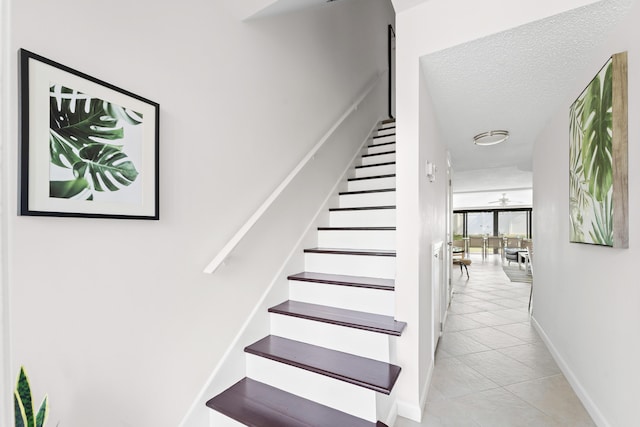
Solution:
M 570 241 L 627 248 L 627 53 L 613 55 L 569 114 Z

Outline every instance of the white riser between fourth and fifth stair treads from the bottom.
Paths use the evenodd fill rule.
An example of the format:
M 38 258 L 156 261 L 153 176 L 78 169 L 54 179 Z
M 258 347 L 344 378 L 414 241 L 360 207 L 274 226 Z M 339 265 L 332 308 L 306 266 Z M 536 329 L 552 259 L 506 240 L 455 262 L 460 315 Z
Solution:
M 396 258 L 389 256 L 305 253 L 305 271 L 395 279 Z

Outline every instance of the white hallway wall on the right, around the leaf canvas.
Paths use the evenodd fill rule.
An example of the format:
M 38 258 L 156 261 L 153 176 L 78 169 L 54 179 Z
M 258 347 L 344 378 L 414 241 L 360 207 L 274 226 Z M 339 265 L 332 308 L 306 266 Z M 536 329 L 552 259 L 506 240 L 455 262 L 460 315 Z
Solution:
M 599 426 L 638 424 L 640 401 L 640 7 L 584 59 L 534 149 L 534 318 Z M 569 243 L 569 106 L 606 60 L 628 51 L 629 249 Z

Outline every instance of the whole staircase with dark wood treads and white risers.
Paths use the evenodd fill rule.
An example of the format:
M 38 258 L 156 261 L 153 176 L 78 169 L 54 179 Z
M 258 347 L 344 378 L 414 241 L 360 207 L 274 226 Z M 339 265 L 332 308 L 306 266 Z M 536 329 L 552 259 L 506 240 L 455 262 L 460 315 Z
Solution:
M 394 337 L 395 121 L 351 172 L 271 335 L 247 346 L 246 378 L 207 402 L 211 426 L 386 427 L 400 367 Z

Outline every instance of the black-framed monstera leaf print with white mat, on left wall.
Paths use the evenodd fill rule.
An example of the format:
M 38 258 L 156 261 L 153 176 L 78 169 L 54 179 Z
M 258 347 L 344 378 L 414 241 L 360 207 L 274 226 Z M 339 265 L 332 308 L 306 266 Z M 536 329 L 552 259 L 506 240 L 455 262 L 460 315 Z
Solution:
M 19 215 L 158 220 L 160 106 L 25 49 Z

